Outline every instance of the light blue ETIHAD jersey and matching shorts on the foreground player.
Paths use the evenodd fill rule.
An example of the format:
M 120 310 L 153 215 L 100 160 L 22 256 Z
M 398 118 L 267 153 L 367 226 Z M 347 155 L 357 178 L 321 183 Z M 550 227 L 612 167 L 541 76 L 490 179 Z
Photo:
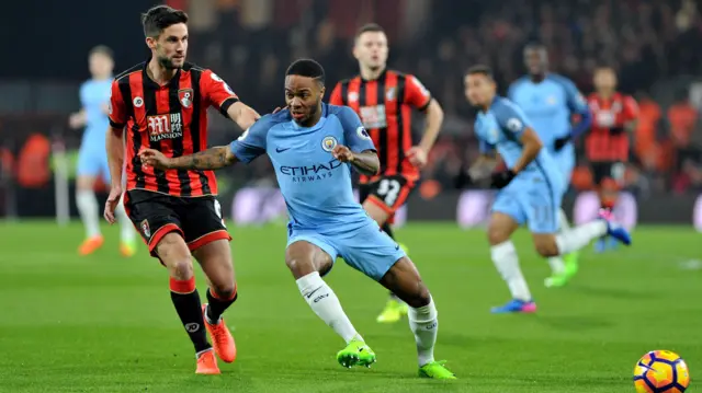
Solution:
M 351 108 L 322 104 L 321 111 L 309 128 L 286 109 L 263 116 L 231 142 L 231 152 L 245 163 L 270 157 L 290 213 L 288 245 L 307 241 L 380 280 L 405 254 L 355 201 L 351 165 L 331 155 L 337 145 L 353 152 L 375 147 Z

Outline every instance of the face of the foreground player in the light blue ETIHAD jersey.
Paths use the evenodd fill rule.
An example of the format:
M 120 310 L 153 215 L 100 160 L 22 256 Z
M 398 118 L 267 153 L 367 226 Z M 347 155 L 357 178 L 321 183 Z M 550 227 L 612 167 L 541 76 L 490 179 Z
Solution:
M 313 78 L 287 76 L 285 78 L 285 104 L 291 115 L 301 125 L 315 119 L 321 109 L 321 97 L 325 88 Z

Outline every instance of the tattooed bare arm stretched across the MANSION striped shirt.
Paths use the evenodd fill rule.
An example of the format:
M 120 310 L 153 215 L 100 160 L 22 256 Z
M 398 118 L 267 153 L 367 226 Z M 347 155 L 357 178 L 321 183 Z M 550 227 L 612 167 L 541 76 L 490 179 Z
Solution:
M 139 152 L 141 163 L 161 170 L 218 170 L 237 162 L 228 146 L 217 146 L 207 150 L 181 157 L 169 158 L 158 150 L 144 149 Z

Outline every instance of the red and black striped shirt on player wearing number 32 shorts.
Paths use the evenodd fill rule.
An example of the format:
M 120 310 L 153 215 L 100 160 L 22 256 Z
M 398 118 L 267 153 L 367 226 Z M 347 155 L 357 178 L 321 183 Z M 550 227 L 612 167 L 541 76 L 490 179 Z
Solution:
M 419 170 L 405 152 L 412 147 L 411 111 L 424 111 L 430 102 L 431 94 L 417 78 L 393 70 L 383 71 L 375 80 L 356 76 L 337 83 L 329 103 L 355 111 L 381 160 L 380 173 L 361 176 L 361 183 L 393 175 L 403 175 L 410 182 L 419 180 Z

